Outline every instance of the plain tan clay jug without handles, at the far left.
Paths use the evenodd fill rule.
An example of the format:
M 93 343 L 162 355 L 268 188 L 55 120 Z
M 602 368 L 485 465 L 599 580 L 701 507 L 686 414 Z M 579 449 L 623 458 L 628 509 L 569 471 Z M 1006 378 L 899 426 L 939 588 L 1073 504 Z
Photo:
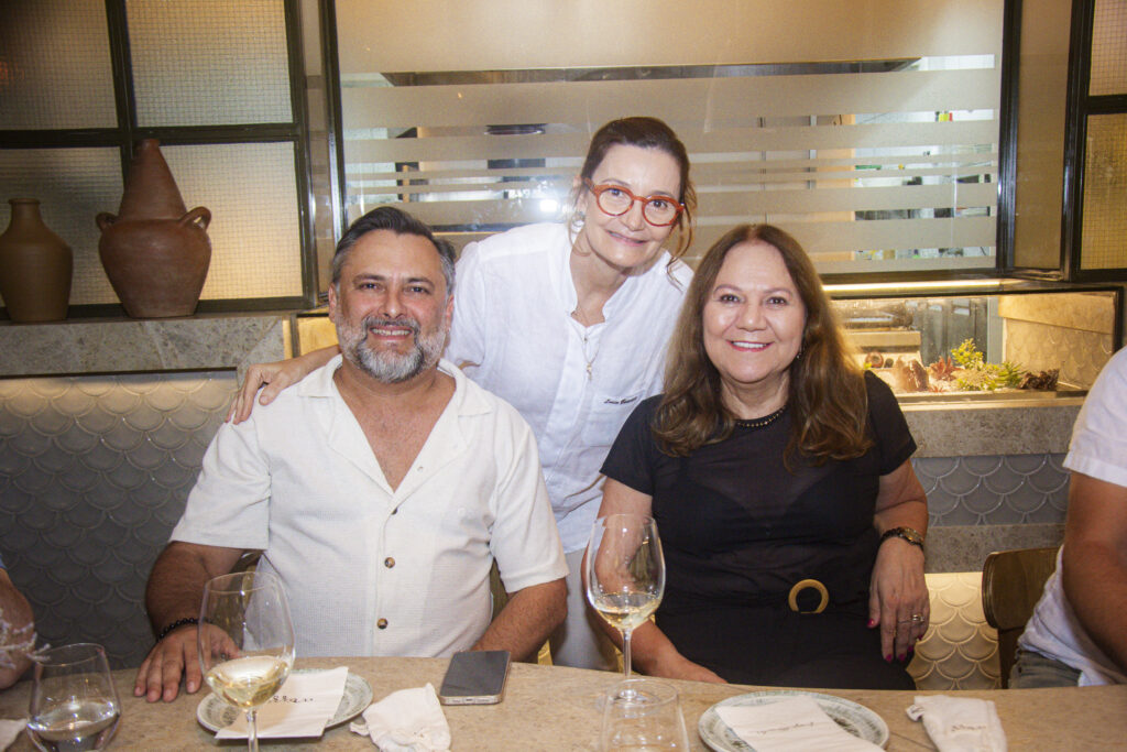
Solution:
M 11 222 L 0 235 L 0 295 L 12 321 L 66 318 L 74 257 L 39 216 L 38 198 L 9 198 Z

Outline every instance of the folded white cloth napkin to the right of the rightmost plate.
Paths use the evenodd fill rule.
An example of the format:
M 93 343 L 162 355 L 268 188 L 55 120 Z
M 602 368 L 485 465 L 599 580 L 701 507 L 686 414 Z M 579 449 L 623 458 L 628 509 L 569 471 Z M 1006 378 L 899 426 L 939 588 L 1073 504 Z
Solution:
M 908 718 L 923 718 L 939 752 L 1005 752 L 1005 732 L 992 700 L 917 695 Z

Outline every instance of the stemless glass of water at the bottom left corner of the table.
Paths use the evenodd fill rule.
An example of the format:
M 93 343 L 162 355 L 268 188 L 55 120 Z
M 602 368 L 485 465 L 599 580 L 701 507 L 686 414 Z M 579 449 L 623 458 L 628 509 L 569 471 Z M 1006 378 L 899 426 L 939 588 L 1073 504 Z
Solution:
M 106 652 L 100 645 L 79 643 L 38 655 L 27 735 L 44 752 L 104 749 L 122 714 Z

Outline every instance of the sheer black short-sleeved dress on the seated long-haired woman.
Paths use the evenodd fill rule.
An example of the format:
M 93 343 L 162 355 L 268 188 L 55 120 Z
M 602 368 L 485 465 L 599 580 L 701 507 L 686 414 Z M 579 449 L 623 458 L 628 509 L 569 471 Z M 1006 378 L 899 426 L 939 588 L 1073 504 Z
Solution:
M 866 386 L 875 445 L 843 462 L 796 454 L 788 469 L 789 410 L 685 458 L 654 441 L 659 397 L 622 427 L 603 474 L 653 497 L 667 570 L 657 623 L 685 657 L 743 683 L 912 687 L 903 667 L 884 662 L 866 622 L 880 476 L 903 465 L 915 442 L 891 390 L 869 373 Z M 806 578 L 829 591 L 820 614 L 787 605 Z M 806 591 L 799 602 L 811 601 Z

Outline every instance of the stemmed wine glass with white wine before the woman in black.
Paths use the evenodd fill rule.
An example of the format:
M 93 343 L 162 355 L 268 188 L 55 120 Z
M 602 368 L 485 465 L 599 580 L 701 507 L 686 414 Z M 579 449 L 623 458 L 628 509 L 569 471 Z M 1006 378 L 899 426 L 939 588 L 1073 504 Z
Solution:
M 665 593 L 665 558 L 654 519 L 609 514 L 595 520 L 584 568 L 587 601 L 622 632 L 622 673 L 630 679 L 630 634 Z

